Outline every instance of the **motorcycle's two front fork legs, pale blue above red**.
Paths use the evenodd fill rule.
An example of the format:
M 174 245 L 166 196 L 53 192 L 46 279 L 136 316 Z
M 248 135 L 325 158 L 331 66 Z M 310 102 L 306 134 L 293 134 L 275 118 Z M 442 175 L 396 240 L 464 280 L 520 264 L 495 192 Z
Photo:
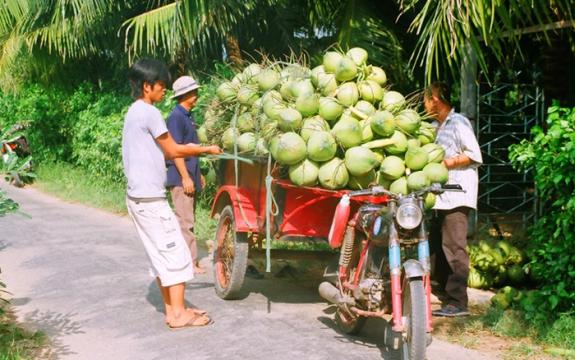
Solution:
M 433 330 L 431 323 L 431 262 L 429 259 L 429 240 L 425 222 L 421 224 L 419 242 L 417 245 L 418 260 L 423 266 L 423 286 L 425 290 L 425 303 L 427 308 L 427 332 Z M 403 304 L 401 289 L 401 250 L 399 237 L 395 227 L 390 231 L 389 239 L 389 269 L 391 276 L 391 305 L 393 308 L 393 330 L 403 331 Z

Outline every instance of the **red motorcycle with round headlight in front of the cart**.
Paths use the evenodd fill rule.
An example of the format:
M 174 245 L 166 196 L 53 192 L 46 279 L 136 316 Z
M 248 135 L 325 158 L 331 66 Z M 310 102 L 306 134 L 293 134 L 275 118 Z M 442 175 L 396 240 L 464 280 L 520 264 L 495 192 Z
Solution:
M 385 342 L 398 359 L 425 359 L 431 343 L 424 202 L 428 194 L 444 191 L 462 190 L 459 185 L 433 184 L 401 195 L 377 186 L 344 195 L 335 211 L 329 241 L 341 248 L 339 263 L 337 271 L 326 271 L 331 281 L 321 283 L 319 293 L 337 305 L 336 323 L 347 334 L 359 332 L 369 317 L 391 314 L 392 331 Z M 387 201 L 364 203 L 349 218 L 350 200 L 366 196 Z

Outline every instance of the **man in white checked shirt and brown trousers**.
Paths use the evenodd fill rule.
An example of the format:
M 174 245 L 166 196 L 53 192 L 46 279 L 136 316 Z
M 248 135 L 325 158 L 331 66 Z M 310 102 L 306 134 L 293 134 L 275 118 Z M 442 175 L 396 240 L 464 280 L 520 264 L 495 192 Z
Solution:
M 469 119 L 456 113 L 449 99 L 450 91 L 445 83 L 433 83 L 425 89 L 425 110 L 436 120 L 435 142 L 445 149 L 443 164 L 449 169 L 448 183 L 459 184 L 465 191 L 438 196 L 434 207 L 437 216 L 430 236 L 435 253 L 433 275 L 440 290 L 445 292 L 443 307 L 433 315 L 453 317 L 469 315 L 467 219 L 469 211 L 477 209 L 477 168 L 483 159 Z

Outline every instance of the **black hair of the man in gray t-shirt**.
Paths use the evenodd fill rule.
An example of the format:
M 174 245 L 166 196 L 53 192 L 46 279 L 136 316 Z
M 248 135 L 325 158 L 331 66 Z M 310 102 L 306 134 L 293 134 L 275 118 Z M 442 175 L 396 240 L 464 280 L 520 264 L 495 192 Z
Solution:
M 142 97 L 144 83 L 154 85 L 161 81 L 165 86 L 169 86 L 171 81 L 166 64 L 149 58 L 140 59 L 132 65 L 128 72 L 128 79 L 132 88 L 132 96 L 136 99 Z

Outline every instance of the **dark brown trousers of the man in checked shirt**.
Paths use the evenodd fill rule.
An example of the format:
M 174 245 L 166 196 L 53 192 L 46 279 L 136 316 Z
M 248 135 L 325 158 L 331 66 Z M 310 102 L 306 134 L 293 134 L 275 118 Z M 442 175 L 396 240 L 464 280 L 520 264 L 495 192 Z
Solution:
M 469 254 L 467 245 L 468 207 L 437 210 L 430 229 L 432 277 L 445 292 L 445 304 L 467 308 Z

